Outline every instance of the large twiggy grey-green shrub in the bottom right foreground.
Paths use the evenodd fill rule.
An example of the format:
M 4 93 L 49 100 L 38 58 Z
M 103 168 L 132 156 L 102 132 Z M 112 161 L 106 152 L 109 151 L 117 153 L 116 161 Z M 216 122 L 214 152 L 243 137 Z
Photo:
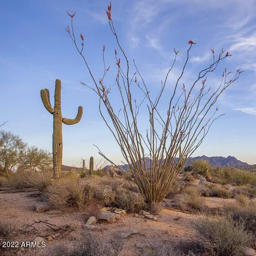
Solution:
M 230 218 L 200 219 L 195 223 L 198 243 L 203 255 L 242 256 L 243 249 L 251 245 L 252 236 L 244 229 L 243 222 Z

